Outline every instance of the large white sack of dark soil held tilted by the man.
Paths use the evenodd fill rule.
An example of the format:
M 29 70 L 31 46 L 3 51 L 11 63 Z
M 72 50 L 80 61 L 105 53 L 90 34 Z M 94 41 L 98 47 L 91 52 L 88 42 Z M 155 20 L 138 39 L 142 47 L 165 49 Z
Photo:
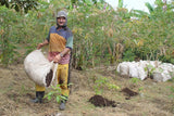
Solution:
M 35 50 L 25 57 L 24 68 L 34 82 L 49 87 L 55 77 L 58 63 L 49 62 L 41 50 Z

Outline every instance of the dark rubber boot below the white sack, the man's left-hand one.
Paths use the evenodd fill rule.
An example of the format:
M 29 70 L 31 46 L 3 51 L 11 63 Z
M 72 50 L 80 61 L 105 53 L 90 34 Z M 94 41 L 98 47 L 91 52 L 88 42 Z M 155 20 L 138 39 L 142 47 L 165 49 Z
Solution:
M 45 96 L 45 91 L 36 91 L 36 99 L 30 100 L 33 103 L 42 103 L 42 98 Z

